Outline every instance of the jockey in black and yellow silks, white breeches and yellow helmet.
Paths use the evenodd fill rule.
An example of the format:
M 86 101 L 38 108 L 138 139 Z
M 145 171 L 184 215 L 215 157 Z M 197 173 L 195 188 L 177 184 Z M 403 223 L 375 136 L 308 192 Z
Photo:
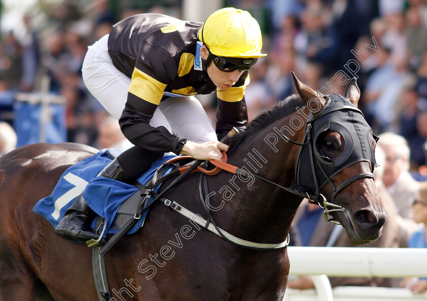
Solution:
M 257 21 L 234 8 L 216 11 L 204 23 L 140 14 L 115 24 L 109 35 L 89 46 L 83 80 L 135 147 L 121 153 L 100 176 L 137 179 L 165 152 L 221 159 L 228 146 L 218 140 L 248 122 L 248 70 L 266 56 L 261 47 Z M 216 130 L 194 97 L 215 89 Z M 97 239 L 89 216 L 94 212 L 80 195 L 55 233 Z

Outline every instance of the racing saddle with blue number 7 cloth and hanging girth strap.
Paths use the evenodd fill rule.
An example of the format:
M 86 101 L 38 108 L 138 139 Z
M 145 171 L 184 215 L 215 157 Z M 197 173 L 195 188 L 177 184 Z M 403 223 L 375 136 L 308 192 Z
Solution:
M 144 224 L 148 207 L 153 204 L 154 197 L 159 197 L 157 191 L 160 185 L 167 179 L 185 173 L 185 170 L 189 169 L 190 164 L 194 162 L 190 156 L 164 156 L 153 163 L 144 175 L 132 183 L 133 185 L 96 177 L 119 154 L 120 152 L 114 149 L 102 150 L 94 156 L 76 163 L 65 171 L 52 194 L 40 200 L 33 209 L 44 216 L 53 227 L 56 227 L 74 199 L 84 191 L 83 197 L 86 203 L 99 214 L 94 218 L 91 226 L 97 233 L 100 233 L 100 238 L 91 239 L 87 241 L 87 244 L 92 247 L 94 281 L 101 301 L 111 298 L 105 257 L 100 256 L 102 249 L 99 243 L 102 238 L 106 237 L 107 233 L 114 234 L 108 241 L 108 248 L 105 248 L 107 245 L 104 245 L 106 253 L 121 235 L 138 231 Z M 158 199 L 165 205 L 180 210 L 180 207 L 173 201 L 164 198 Z M 107 215 L 107 213 L 111 214 Z M 120 231 L 124 233 L 121 234 Z

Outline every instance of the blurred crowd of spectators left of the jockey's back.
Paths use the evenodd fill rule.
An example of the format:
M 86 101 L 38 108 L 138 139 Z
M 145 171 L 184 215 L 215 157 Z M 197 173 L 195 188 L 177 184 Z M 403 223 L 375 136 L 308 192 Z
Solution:
M 117 121 L 112 123 L 111 116 L 88 92 L 81 67 L 89 45 L 108 34 L 118 20 L 143 12 L 130 9 L 117 15 L 108 0 L 64 0 L 44 11 L 25 13 L 25 32 L 4 32 L 0 41 L 0 122 L 5 126 L 14 124 L 16 115 L 9 102 L 14 93 L 43 91 L 65 99 L 67 142 L 99 149 L 126 150 L 132 146 Z M 6 153 L 2 151 L 2 140 L 3 144 L 14 141 L 16 145 L 16 133 L 0 134 L 0 155 Z

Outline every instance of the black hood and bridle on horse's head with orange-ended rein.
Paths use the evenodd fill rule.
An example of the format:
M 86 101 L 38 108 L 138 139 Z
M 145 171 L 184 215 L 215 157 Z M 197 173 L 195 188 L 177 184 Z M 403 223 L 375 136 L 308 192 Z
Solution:
M 347 130 L 343 126 L 340 126 L 339 123 L 337 123 L 336 121 L 340 121 L 341 119 L 348 119 L 349 122 L 353 125 L 353 128 Z M 319 135 L 327 130 L 338 131 L 344 137 L 345 140 L 345 149 L 343 150 L 342 154 L 340 154 L 335 159 L 330 159 L 325 156 L 322 156 L 322 154 L 319 153 L 316 148 L 316 142 L 319 138 Z M 316 203 L 323 208 L 323 216 L 326 222 L 339 224 L 339 222 L 337 222 L 333 217 L 329 217 L 329 215 L 337 211 L 346 211 L 346 209 L 341 205 L 334 204 L 335 197 L 345 187 L 347 187 L 358 179 L 374 178 L 372 172 L 374 170 L 374 167 L 376 166 L 376 163 L 373 149 L 371 146 L 371 141 L 373 137 L 375 140 L 377 139 L 375 136 L 372 135 L 371 128 L 364 120 L 362 112 L 348 99 L 342 97 L 341 95 L 329 95 L 326 98 L 325 106 L 317 114 L 313 114 L 311 112 L 308 115 L 302 143 L 293 141 L 287 136 L 285 136 L 283 133 L 281 134 L 283 135 L 283 138 L 285 138 L 286 141 L 301 146 L 301 149 L 298 154 L 297 164 L 295 167 L 295 181 L 297 184 L 291 187 L 282 186 L 257 174 L 230 166 L 227 163 L 221 161 L 212 160 L 211 163 L 234 174 L 239 174 L 243 177 L 252 176 L 256 180 L 268 182 L 272 185 L 275 185 L 281 189 L 288 191 L 289 193 L 303 198 L 307 198 L 309 200 L 309 203 Z M 356 142 L 360 141 L 360 143 L 354 143 L 353 138 L 355 138 L 354 140 Z M 358 147 L 358 145 L 360 145 L 360 147 Z M 342 157 L 343 155 L 344 157 Z M 307 165 L 303 165 L 301 163 L 301 160 L 307 157 L 310 160 L 310 166 L 308 168 L 304 168 L 307 167 Z M 371 166 L 371 172 L 358 173 L 348 178 L 338 186 L 332 182 L 331 178 L 334 175 L 337 175 L 345 168 L 360 161 L 368 161 Z M 310 180 L 304 181 L 302 179 Z M 203 193 L 201 192 L 202 190 L 204 190 L 205 196 L 207 196 L 209 193 L 207 189 L 207 183 L 203 181 L 204 180 L 202 175 L 199 185 L 200 196 L 202 199 L 202 204 L 205 207 L 206 213 L 208 215 L 207 221 L 211 221 L 209 208 L 206 206 L 206 202 L 203 198 Z M 326 197 L 321 193 L 321 188 L 326 183 L 329 183 L 332 187 L 332 195 L 330 202 L 327 201 Z

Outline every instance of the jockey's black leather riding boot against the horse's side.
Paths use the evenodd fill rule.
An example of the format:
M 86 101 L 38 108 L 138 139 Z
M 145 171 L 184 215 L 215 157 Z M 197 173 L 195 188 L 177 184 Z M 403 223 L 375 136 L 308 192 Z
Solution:
M 120 166 L 117 158 L 107 165 L 98 176 L 114 179 L 117 181 L 126 181 L 130 176 Z M 98 239 L 100 234 L 97 234 L 90 228 L 89 222 L 96 213 L 90 209 L 81 193 L 74 203 L 65 212 L 62 220 L 56 226 L 54 232 L 60 237 L 68 240 L 87 241 L 89 239 Z

